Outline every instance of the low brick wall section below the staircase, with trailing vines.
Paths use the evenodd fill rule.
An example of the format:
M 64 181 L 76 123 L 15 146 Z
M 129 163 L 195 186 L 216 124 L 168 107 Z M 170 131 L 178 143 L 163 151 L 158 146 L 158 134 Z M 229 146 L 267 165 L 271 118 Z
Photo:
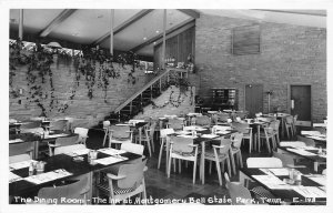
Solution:
M 191 90 L 192 90 L 192 95 L 191 95 Z M 171 85 L 168 90 L 165 90 L 164 92 L 162 92 L 162 94 L 160 97 L 158 97 L 157 99 L 154 99 L 154 103 L 157 105 L 163 105 L 165 102 L 169 102 L 169 98 L 170 98 L 170 93 L 173 91 L 172 93 L 172 100 L 176 100 L 179 94 L 180 94 L 180 90 L 179 88 L 175 88 L 174 85 Z M 159 119 L 160 116 L 163 116 L 164 114 L 168 115 L 182 115 L 182 114 L 188 114 L 189 112 L 194 112 L 194 93 L 195 93 L 195 88 L 192 87 L 190 88 L 188 91 L 185 91 L 185 93 L 181 93 L 181 100 L 182 103 L 180 104 L 180 106 L 175 108 L 172 104 L 168 104 L 164 108 L 161 109 L 153 109 L 152 105 L 147 105 L 145 108 L 143 108 L 143 113 L 139 113 L 137 116 L 134 116 L 134 119 L 142 119 L 142 118 L 152 118 L 152 119 Z M 191 100 L 192 98 L 192 100 Z M 192 103 L 192 104 L 191 104 Z

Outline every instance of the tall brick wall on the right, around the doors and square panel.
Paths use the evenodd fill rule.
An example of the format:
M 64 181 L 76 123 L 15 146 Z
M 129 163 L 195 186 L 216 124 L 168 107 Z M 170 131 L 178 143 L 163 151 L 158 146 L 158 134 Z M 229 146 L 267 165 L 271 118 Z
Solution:
M 232 29 L 251 24 L 260 24 L 261 53 L 231 54 Z M 261 83 L 264 92 L 273 91 L 271 110 L 289 111 L 290 84 L 309 84 L 313 121 L 326 116 L 326 29 L 202 14 L 195 26 L 195 65 L 194 84 L 206 101 L 210 88 L 236 88 L 242 110 L 245 84 Z M 265 93 L 263 99 L 268 112 Z

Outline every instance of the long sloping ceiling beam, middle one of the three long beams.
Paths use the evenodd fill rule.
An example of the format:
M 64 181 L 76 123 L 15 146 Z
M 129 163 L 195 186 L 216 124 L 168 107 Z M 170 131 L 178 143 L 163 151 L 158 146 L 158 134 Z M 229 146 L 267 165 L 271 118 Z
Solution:
M 132 23 L 139 21 L 142 17 L 144 17 L 148 13 L 150 13 L 151 11 L 153 11 L 153 9 L 144 9 L 144 10 L 139 11 L 133 17 L 131 17 L 128 20 L 125 20 L 124 22 L 122 22 L 117 28 L 114 28 L 113 29 L 113 36 L 115 36 L 117 33 L 121 32 L 122 30 L 124 30 L 125 28 L 128 28 L 129 26 L 131 26 Z M 103 34 L 102 37 L 100 37 L 98 40 L 95 40 L 94 42 L 92 42 L 92 45 L 100 44 L 102 41 L 104 41 L 105 39 L 108 39 L 110 36 L 111 36 L 111 33 L 109 31 L 105 34 Z

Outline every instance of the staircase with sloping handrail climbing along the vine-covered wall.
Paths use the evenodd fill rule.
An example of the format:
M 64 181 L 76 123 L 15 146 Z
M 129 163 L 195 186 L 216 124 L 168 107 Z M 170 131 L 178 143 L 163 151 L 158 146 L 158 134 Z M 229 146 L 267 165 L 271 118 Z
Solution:
M 184 69 L 167 68 L 167 70 L 159 73 L 150 82 L 148 82 L 141 90 L 131 95 L 122 104 L 120 104 L 109 116 L 104 120 L 110 122 L 128 121 L 147 105 L 152 99 L 158 98 L 169 85 L 173 84 L 179 79 L 188 78 L 188 71 Z

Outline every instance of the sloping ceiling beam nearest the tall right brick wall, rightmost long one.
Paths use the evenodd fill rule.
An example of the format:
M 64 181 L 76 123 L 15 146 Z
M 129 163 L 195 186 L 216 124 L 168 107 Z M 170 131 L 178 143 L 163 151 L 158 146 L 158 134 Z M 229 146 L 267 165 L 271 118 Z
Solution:
M 173 36 L 175 36 L 175 34 L 178 34 L 180 32 L 183 32 L 184 30 L 186 30 L 189 28 L 192 28 L 194 26 L 195 26 L 195 19 L 194 18 L 190 18 L 190 19 L 181 22 L 180 24 L 176 24 L 176 26 L 170 28 L 169 30 L 167 30 L 167 39 L 169 39 L 171 37 L 171 34 L 173 37 Z M 147 40 L 145 42 L 143 42 L 143 43 L 141 43 L 141 44 L 132 48 L 130 51 L 137 52 L 138 50 L 141 50 L 145 45 L 149 45 L 149 44 L 151 44 L 151 43 L 153 43 L 153 42 L 155 42 L 155 41 L 158 41 L 160 39 L 163 39 L 163 33 L 160 33 L 160 34 L 158 34 L 158 36 L 155 36 L 155 37 Z

